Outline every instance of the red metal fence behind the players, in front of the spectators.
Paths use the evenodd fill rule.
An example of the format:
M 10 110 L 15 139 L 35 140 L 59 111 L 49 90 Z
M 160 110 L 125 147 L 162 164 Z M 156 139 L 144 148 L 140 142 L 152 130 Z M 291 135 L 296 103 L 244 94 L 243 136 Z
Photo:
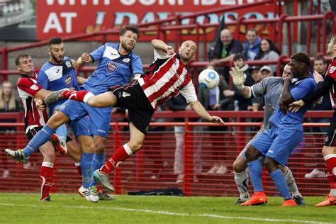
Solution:
M 224 117 L 237 117 L 238 121 L 245 118 L 260 118 L 262 113 L 245 113 L 228 111 Z M 247 116 L 250 114 L 250 116 Z M 308 112 L 310 117 L 331 117 L 331 111 Z M 193 117 L 193 114 L 165 112 L 156 116 L 167 119 L 173 116 Z M 1 114 L 0 118 L 3 117 Z M 8 116 L 7 116 L 8 117 Z M 18 116 L 19 117 L 19 116 Z M 18 118 L 17 117 L 17 118 Z M 184 152 L 182 157 L 175 157 L 176 138 L 172 127 L 184 125 Z M 139 152 L 127 159 L 120 168 L 111 174 L 111 181 L 116 189 L 116 194 L 127 194 L 129 191 L 140 191 L 162 188 L 183 189 L 187 196 L 237 196 L 237 189 L 233 176 L 233 161 L 242 147 L 252 138 L 260 123 L 226 123 L 225 131 L 209 131 L 211 123 L 152 123 L 152 126 L 164 126 L 164 131 L 150 132 L 145 140 L 145 145 Z M 306 133 L 301 143 L 289 159 L 296 183 L 303 195 L 327 194 L 329 186 L 326 178 L 306 179 L 305 174 L 315 167 L 323 167 L 321 155 L 323 147 L 323 133 L 310 133 L 309 126 L 326 126 L 327 124 L 306 123 Z M 23 133 L 22 123 L 1 123 L 1 126 L 14 127 L 13 133 L 0 134 L 0 148 L 22 148 L 28 142 Z M 113 150 L 128 141 L 127 123 L 111 123 L 111 133 L 106 144 L 106 158 L 110 157 Z M 202 130 L 196 130 L 196 127 Z M 255 129 L 251 130 L 254 127 Z M 33 154 L 30 164 L 23 166 L 13 159 L 8 159 L 4 151 L 0 152 L 0 191 L 4 192 L 39 192 L 39 169 L 42 157 L 39 153 Z M 177 184 L 178 174 L 174 172 L 174 163 L 183 162 L 183 183 Z M 215 164 L 227 167 L 225 173 L 208 174 Z M 4 170 L 9 170 L 8 175 L 3 175 Z M 81 186 L 74 162 L 61 155 L 55 161 L 55 186 L 54 192 L 75 193 Z M 277 194 L 269 175 L 264 172 L 264 187 L 268 194 Z

